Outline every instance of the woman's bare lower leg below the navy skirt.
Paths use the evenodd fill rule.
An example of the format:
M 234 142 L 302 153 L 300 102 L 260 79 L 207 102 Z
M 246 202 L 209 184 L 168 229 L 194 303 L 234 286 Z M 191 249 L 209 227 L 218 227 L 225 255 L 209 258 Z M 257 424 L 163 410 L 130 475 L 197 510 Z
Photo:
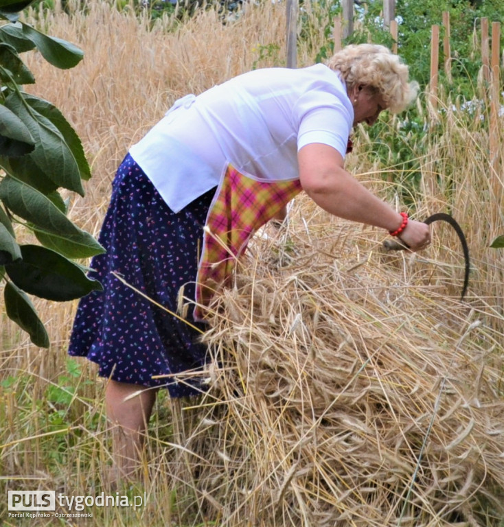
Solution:
M 108 419 L 113 429 L 113 456 L 117 478 L 135 478 L 147 423 L 157 389 L 110 380 L 105 391 Z

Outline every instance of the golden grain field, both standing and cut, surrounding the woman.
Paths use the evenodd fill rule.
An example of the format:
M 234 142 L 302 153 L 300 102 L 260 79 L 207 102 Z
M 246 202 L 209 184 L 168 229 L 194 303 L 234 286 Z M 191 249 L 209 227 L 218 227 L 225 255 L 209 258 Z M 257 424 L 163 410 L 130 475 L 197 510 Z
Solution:
M 27 60 L 37 81 L 30 91 L 56 104 L 82 139 L 93 178 L 85 198 L 72 198 L 70 215 L 95 235 L 117 165 L 174 99 L 252 67 L 284 64 L 284 6 L 275 3 L 248 5 L 227 23 L 202 10 L 184 23 L 165 18 L 154 27 L 148 16 L 98 2 L 70 16 L 58 10 L 27 16 L 84 49 L 84 60 L 70 71 L 55 70 L 36 54 Z M 313 16 L 299 66 L 311 64 L 313 50 L 325 44 L 315 24 L 321 15 Z M 214 386 L 210 395 L 181 403 L 159 398 L 144 481 L 119 489 L 146 492 L 148 505 L 95 507 L 80 524 L 396 525 L 407 501 L 399 489 L 411 482 L 401 525 L 499 525 L 504 251 L 488 245 L 504 231 L 504 209 L 492 183 L 485 120 L 461 117 L 444 100 L 440 105 L 437 132 L 420 159 L 415 209 L 419 218 L 450 211 L 466 231 L 468 302 L 457 300 L 463 262 L 449 229 L 435 226 L 425 253 L 385 255 L 381 233 L 329 218 L 301 196 L 287 231 L 258 239 L 236 288 L 218 299 L 207 336 L 220 359 L 205 373 Z M 392 134 L 400 118 L 389 123 Z M 360 130 L 349 167 L 400 207 L 397 180 L 381 177 L 393 167 L 359 154 L 367 141 Z M 503 162 L 502 141 L 500 156 Z M 12 526 L 23 521 L 8 518 L 7 489 L 98 495 L 111 465 L 104 381 L 93 365 L 66 355 L 76 303 L 36 304 L 49 350 L 33 347 L 1 314 L 0 515 Z M 437 395 L 449 391 L 440 391 L 444 373 L 455 391 L 436 416 Z M 431 417 L 433 441 L 425 435 Z M 424 439 L 431 465 L 419 460 L 421 473 L 412 482 Z M 348 450 L 352 445 L 358 456 Z M 428 480 L 432 474 L 437 487 Z M 422 494 L 422 484 L 435 488 Z M 443 500 L 451 515 L 439 506 Z

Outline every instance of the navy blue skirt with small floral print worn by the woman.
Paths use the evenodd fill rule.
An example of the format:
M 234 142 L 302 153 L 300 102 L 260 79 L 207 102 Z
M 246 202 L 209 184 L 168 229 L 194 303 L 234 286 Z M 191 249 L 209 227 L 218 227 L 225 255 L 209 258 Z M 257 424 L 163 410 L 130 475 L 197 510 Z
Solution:
M 207 347 L 201 333 L 156 304 L 176 313 L 181 286 L 194 298 L 203 226 L 215 189 L 174 213 L 128 154 L 113 181 L 100 243 L 104 255 L 91 261 L 89 276 L 104 290 L 80 299 L 69 355 L 99 364 L 99 375 L 141 386 L 166 386 L 171 397 L 201 392 L 199 375 Z M 122 277 L 133 288 L 119 280 Z M 187 322 L 205 330 L 192 318 Z M 153 379 L 157 375 L 168 375 Z

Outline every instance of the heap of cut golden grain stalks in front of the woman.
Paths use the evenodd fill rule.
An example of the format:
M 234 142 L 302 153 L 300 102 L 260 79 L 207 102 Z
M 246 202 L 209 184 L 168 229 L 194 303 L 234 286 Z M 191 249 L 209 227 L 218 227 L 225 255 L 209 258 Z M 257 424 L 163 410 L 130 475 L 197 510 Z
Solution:
M 181 433 L 200 513 L 222 526 L 499 525 L 496 333 L 450 296 L 442 248 L 412 260 L 383 255 L 376 231 L 307 225 L 254 239 L 213 306 L 211 387 Z

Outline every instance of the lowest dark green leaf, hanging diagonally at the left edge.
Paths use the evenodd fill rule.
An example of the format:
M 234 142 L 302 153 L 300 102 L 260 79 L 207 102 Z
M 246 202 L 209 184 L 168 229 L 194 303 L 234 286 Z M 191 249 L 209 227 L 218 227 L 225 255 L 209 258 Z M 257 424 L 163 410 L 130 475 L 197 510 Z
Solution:
M 27 294 L 11 282 L 3 292 L 7 316 L 30 335 L 30 340 L 41 348 L 49 347 L 49 336 Z

